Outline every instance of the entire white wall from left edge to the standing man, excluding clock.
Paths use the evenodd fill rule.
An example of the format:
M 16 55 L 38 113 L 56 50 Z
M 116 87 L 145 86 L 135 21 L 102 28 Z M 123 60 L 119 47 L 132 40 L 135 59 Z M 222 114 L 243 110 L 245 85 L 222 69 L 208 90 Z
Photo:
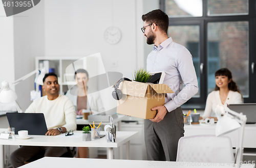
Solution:
M 11 71 L 5 78 L 14 81 L 35 69 L 35 57 L 85 57 L 100 52 L 106 71 L 132 78 L 135 69 L 144 67 L 145 55 L 152 50 L 140 30 L 141 15 L 157 9 L 158 4 L 158 0 L 45 0 L 20 14 L 0 17 L 1 25 L 7 25 L 0 27 L 0 47 L 5 46 L 0 50 L 4 59 L 0 70 L 8 67 Z M 2 4 L 1 8 L 4 16 Z M 104 40 L 109 26 L 121 30 L 122 38 L 116 45 Z M 118 64 L 113 67 L 116 60 Z M 17 102 L 23 110 L 31 103 L 33 80 L 31 76 L 16 85 Z

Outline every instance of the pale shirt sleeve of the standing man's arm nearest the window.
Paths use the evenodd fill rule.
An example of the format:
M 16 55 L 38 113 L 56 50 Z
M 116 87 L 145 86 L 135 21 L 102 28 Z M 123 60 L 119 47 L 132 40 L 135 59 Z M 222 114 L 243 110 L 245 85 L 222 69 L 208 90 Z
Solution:
M 192 55 L 185 47 L 177 54 L 176 66 L 185 87 L 172 100 L 164 104 L 169 112 L 184 104 L 198 92 L 197 75 Z

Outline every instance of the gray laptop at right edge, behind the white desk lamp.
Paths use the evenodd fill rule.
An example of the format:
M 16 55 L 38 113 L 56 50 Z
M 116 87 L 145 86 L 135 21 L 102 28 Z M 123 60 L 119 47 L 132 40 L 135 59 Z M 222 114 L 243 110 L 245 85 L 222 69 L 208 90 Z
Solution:
M 246 115 L 246 124 L 256 123 L 256 103 L 244 103 L 244 104 L 228 104 L 227 107 L 237 113 L 243 113 Z

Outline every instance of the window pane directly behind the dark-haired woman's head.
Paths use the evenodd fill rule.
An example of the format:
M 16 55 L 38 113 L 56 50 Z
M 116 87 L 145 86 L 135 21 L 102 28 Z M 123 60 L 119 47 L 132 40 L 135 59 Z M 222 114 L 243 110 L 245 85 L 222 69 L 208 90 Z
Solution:
M 249 96 L 248 28 L 248 21 L 208 23 L 208 94 L 215 89 L 215 72 L 227 67 L 243 97 Z

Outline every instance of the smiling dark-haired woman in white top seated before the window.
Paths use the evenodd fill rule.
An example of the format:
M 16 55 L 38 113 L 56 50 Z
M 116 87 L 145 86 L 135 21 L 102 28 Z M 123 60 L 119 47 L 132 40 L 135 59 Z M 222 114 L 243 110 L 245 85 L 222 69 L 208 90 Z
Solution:
M 236 82 L 232 80 L 232 74 L 227 68 L 222 68 L 215 72 L 215 82 L 215 91 L 208 95 L 204 114 L 200 119 L 214 118 L 217 120 L 216 117 L 211 117 L 211 113 L 218 104 L 243 103 L 243 96 Z

